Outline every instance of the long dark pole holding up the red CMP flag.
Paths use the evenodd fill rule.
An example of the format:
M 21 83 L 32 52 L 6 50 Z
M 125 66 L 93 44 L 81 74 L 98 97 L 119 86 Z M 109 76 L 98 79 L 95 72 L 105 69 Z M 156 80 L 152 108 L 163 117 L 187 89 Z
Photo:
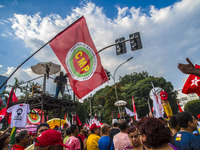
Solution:
M 25 64 L 31 57 L 33 57 L 35 54 L 37 54 L 41 49 L 43 49 L 47 44 L 49 44 L 52 40 L 54 40 L 57 36 L 59 36 L 61 33 L 63 33 L 66 29 L 68 29 L 69 27 L 71 27 L 74 23 L 76 23 L 77 21 L 79 21 L 83 16 L 81 16 L 80 18 L 78 18 L 76 21 L 74 21 L 72 24 L 70 24 L 67 28 L 65 28 L 64 30 L 62 30 L 60 33 L 58 33 L 55 37 L 53 37 L 50 41 L 48 41 L 47 43 L 45 43 L 42 47 L 40 47 L 37 51 L 35 51 L 31 56 L 29 56 L 24 62 L 22 62 L 12 73 L 11 75 L 4 81 L 4 83 L 1 85 L 0 89 L 6 84 L 6 82 L 13 76 L 13 74 L 23 65 Z

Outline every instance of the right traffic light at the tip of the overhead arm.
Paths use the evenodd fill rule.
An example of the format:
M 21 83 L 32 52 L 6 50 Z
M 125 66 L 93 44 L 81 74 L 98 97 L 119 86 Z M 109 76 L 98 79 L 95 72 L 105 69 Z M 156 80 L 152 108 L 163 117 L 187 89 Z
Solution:
M 135 51 L 138 49 L 142 49 L 142 42 L 140 38 L 140 32 L 136 32 L 129 35 L 130 43 L 131 43 L 131 50 Z

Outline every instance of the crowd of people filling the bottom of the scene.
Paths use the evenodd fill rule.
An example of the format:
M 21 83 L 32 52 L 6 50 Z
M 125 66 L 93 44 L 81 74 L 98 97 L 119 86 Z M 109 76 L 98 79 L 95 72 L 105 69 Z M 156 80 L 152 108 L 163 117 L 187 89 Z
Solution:
M 41 123 L 32 134 L 21 130 L 10 146 L 10 134 L 0 136 L 0 150 L 200 150 L 198 120 L 180 112 L 168 121 L 143 117 L 138 121 L 113 119 L 112 126 L 93 123 L 89 129 L 71 125 L 62 132 Z

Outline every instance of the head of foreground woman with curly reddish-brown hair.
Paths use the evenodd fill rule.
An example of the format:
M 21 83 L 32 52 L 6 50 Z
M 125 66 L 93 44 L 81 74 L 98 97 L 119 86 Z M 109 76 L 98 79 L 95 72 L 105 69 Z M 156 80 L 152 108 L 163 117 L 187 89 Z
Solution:
M 143 117 L 136 124 L 140 142 L 147 150 L 177 150 L 169 142 L 172 133 L 163 121 L 153 117 Z

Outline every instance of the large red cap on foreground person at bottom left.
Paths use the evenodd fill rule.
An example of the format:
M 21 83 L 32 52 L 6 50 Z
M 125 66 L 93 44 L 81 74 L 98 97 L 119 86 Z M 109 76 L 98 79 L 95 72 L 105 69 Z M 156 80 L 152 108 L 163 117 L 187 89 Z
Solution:
M 36 142 L 35 142 L 35 146 L 43 147 L 43 146 L 50 146 L 50 145 L 62 145 L 66 148 L 70 148 L 70 146 L 63 144 L 61 133 L 53 129 L 49 129 L 42 132 L 37 137 Z

